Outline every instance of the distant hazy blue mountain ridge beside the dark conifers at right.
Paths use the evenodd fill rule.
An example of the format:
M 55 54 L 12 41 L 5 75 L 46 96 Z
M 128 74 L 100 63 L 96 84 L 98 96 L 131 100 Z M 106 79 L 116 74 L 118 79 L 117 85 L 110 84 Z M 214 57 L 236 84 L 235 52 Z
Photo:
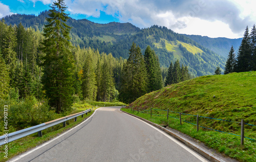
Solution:
M 233 45 L 234 52 L 237 53 L 243 38 L 229 39 L 229 38 L 209 38 L 201 35 L 186 35 L 184 36 L 195 40 L 207 49 L 227 58 L 231 45 Z

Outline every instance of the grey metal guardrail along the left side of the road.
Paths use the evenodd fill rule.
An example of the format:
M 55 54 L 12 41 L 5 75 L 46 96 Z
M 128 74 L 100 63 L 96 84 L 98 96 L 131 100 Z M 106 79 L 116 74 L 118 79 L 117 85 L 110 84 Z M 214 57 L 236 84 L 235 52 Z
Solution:
M 88 110 L 85 110 L 85 111 L 82 111 L 82 112 L 78 112 L 78 113 L 75 113 L 75 114 L 68 115 L 66 117 L 55 119 L 53 121 L 42 123 L 42 124 L 39 124 L 39 125 L 36 125 L 36 126 L 33 126 L 33 127 L 29 127 L 29 128 L 26 128 L 26 129 L 16 131 L 16 132 L 12 132 L 12 133 L 7 133 L 5 135 L 0 136 L 0 146 L 6 144 L 6 139 L 7 139 L 7 142 L 10 143 L 12 141 L 18 140 L 19 138 L 25 137 L 27 135 L 30 135 L 30 134 L 33 134 L 33 133 L 36 133 L 36 132 L 38 132 L 38 136 L 42 136 L 42 132 L 41 132 L 42 130 L 44 130 L 46 128 L 49 128 L 49 127 L 52 127 L 54 125 L 60 124 L 60 123 L 63 123 L 63 127 L 65 127 L 66 126 L 66 121 L 75 118 L 75 122 L 76 122 L 77 117 L 79 117 L 81 115 L 81 117 L 83 118 L 84 113 L 87 114 L 88 112 L 90 113 L 91 111 L 92 111 L 91 109 L 88 109 Z

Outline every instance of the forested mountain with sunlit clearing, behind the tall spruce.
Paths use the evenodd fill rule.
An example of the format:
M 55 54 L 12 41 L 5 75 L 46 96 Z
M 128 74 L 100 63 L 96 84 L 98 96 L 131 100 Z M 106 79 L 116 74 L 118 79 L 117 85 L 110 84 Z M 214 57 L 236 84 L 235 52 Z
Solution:
M 14 14 L 4 19 L 8 25 L 21 23 L 25 28 L 42 31 L 47 16 L 48 11 L 43 11 L 38 16 Z M 74 45 L 98 49 L 100 53 L 112 53 L 114 57 L 128 58 L 131 44 L 135 42 L 143 53 L 147 45 L 150 45 L 164 67 L 179 59 L 194 76 L 212 75 L 216 66 L 224 69 L 224 57 L 166 27 L 155 25 L 140 29 L 130 23 L 97 24 L 87 19 L 73 18 L 67 21 L 67 25 L 72 27 L 70 35 Z

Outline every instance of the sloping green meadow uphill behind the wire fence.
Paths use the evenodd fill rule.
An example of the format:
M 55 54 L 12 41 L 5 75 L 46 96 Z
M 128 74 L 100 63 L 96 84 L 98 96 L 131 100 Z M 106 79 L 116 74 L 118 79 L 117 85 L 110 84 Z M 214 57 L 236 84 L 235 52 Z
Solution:
M 256 125 L 256 72 L 203 76 L 151 92 L 133 105 L 143 109 L 157 107 L 187 114 L 201 115 Z M 215 97 L 214 97 L 215 96 Z M 216 121 L 214 121 L 216 122 Z M 205 121 L 212 129 L 239 134 L 240 125 L 221 125 Z M 256 139 L 255 127 L 247 128 L 247 136 Z

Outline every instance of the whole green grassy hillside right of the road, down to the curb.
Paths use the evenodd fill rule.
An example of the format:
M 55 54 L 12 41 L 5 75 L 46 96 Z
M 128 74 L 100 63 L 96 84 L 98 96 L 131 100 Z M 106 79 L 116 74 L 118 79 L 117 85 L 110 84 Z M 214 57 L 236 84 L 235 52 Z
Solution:
M 135 107 L 134 112 L 130 109 L 123 110 L 154 123 L 168 125 L 239 161 L 256 161 L 255 80 L 256 72 L 203 76 L 140 97 L 130 104 Z M 142 110 L 137 113 L 136 107 Z M 152 117 L 148 111 L 150 107 L 154 109 Z M 180 125 L 179 113 L 175 112 L 182 112 L 182 125 Z M 199 126 L 205 127 L 199 127 L 198 132 L 196 126 L 191 124 L 197 123 L 196 117 L 193 116 L 197 114 L 201 116 Z M 241 137 L 238 135 L 241 134 L 242 119 L 245 123 L 251 124 L 245 125 L 245 137 L 254 140 L 245 138 L 245 144 L 240 146 Z

